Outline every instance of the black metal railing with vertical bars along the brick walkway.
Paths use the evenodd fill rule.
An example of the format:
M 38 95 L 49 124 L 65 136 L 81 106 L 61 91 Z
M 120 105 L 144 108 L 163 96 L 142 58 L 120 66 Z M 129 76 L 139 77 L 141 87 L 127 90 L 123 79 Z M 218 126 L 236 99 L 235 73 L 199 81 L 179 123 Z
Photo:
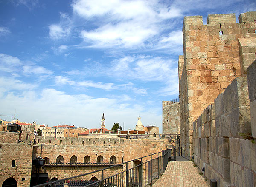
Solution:
M 129 164 L 135 166 L 128 168 Z M 159 178 L 159 175 L 164 173 L 167 164 L 168 149 L 121 164 L 106 167 L 101 170 L 64 178 L 58 181 L 51 181 L 44 184 L 39 184 L 34 187 L 145 187 L 148 184 L 152 185 L 152 181 L 155 178 Z M 114 169 L 118 166 L 126 167 L 126 169 L 122 169 L 121 171 L 119 170 L 119 173 L 104 178 L 104 174 L 107 173 L 108 175 L 108 169 Z M 100 173 L 101 180 L 88 182 L 86 179 L 83 178 L 86 176 L 92 176 L 92 174 L 96 175 L 96 173 Z M 73 180 L 75 182 L 70 180 Z

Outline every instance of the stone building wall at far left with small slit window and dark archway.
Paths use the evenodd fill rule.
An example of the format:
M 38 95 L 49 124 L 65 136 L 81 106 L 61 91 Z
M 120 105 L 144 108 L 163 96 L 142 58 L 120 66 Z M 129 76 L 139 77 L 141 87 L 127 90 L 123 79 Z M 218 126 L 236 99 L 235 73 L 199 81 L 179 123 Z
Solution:
M 30 185 L 33 145 L 17 143 L 21 134 L 0 132 L 0 186 L 10 177 L 18 187 Z

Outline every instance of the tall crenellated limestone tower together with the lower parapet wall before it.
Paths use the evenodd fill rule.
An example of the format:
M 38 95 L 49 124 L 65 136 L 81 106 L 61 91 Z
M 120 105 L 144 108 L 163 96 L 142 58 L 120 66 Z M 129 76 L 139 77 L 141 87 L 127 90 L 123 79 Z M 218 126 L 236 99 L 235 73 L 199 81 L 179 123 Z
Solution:
M 184 17 L 181 152 L 218 187 L 256 186 L 255 29 L 255 11 Z

